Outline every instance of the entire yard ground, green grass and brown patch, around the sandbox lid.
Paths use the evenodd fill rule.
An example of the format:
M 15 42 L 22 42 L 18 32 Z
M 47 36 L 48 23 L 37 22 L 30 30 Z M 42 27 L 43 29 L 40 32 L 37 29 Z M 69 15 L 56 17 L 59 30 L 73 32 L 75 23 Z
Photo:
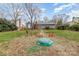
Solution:
M 56 37 L 49 37 L 54 33 Z M 38 46 L 39 35 L 50 38 L 54 44 L 50 47 Z M 62 38 L 65 38 L 61 40 Z M 79 55 L 79 32 L 68 30 L 28 30 L 0 32 L 0 55 L 28 56 L 28 55 Z

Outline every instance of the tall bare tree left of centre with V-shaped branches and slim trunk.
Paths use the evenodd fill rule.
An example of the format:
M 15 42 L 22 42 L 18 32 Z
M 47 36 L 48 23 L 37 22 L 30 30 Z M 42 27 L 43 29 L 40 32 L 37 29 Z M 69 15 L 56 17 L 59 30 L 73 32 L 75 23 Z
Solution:
M 33 21 L 40 18 L 41 10 L 32 3 L 25 3 L 24 10 L 27 18 L 31 21 L 31 28 L 33 28 Z

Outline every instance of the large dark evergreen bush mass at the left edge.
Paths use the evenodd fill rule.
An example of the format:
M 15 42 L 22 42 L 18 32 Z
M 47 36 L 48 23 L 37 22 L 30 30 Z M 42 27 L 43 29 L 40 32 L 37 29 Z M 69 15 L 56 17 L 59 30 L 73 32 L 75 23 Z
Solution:
M 17 30 L 17 26 L 6 19 L 0 18 L 0 32 Z

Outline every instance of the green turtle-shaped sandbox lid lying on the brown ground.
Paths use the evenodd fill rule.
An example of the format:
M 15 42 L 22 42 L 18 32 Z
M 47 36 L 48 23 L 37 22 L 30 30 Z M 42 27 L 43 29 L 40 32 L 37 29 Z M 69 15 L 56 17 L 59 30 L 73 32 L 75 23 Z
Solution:
M 37 45 L 39 45 L 39 46 L 52 46 L 53 41 L 50 38 L 38 38 Z

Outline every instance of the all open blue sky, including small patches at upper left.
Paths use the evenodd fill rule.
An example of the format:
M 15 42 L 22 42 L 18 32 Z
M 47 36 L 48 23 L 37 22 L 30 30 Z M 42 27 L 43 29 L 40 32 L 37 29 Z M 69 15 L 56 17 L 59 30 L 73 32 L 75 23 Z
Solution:
M 55 14 L 67 14 L 71 16 L 70 18 L 73 16 L 79 17 L 78 3 L 39 3 L 36 5 L 42 10 L 42 18 L 47 16 L 51 19 Z M 9 4 L 0 4 L 0 12 L 12 12 L 10 8 L 7 8 L 7 6 L 9 6 Z

